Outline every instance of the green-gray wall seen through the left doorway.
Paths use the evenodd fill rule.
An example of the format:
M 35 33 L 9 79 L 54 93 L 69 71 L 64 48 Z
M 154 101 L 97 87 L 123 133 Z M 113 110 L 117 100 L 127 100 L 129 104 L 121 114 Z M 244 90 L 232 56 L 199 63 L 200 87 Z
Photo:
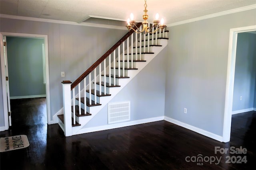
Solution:
M 10 97 L 45 95 L 44 39 L 6 37 Z

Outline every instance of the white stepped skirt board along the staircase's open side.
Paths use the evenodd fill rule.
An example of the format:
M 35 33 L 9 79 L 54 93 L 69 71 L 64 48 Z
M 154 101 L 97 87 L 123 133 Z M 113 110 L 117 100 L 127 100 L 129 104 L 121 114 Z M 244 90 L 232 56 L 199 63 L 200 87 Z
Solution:
M 81 126 L 72 127 L 73 135 L 81 134 L 80 129 L 83 129 L 86 123 L 88 123 L 104 106 L 106 106 L 108 102 L 110 102 L 114 98 L 114 96 L 116 96 L 122 90 L 122 88 L 124 88 L 148 63 L 150 63 L 150 61 L 154 59 L 154 57 L 156 57 L 164 49 L 164 47 L 167 46 L 167 39 L 158 40 L 160 41 L 160 44 L 162 46 L 152 47 L 154 54 L 144 54 L 146 62 L 137 62 L 136 68 L 138 68 L 138 70 L 127 70 L 128 76 L 130 78 L 120 78 L 118 80 L 118 85 L 120 85 L 120 87 L 109 88 L 109 94 L 111 94 L 111 96 L 105 96 L 104 98 L 100 98 L 100 106 L 90 107 L 90 113 L 92 115 L 79 117 L 79 123 L 81 124 Z

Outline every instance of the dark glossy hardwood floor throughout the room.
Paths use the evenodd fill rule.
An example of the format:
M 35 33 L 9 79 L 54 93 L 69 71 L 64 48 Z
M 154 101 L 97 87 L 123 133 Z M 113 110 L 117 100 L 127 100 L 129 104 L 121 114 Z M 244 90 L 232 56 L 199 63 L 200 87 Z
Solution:
M 167 121 L 64 137 L 57 124 L 46 124 L 45 98 L 12 101 L 12 108 L 13 126 L 0 137 L 27 135 L 30 146 L 1 152 L 0 170 L 255 169 L 255 111 L 232 115 L 231 140 L 221 143 Z M 214 152 L 240 146 L 246 154 Z M 192 162 L 198 154 L 204 161 Z M 226 156 L 246 156 L 247 163 L 229 164 Z M 220 162 L 208 161 L 216 157 Z

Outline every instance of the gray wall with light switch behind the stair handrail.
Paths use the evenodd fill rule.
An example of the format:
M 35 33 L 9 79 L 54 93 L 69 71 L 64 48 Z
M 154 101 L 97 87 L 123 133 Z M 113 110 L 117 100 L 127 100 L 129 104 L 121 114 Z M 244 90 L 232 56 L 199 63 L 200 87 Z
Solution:
M 62 80 L 76 80 L 127 32 L 7 18 L 0 18 L 0 31 L 48 35 L 51 119 L 63 107 Z

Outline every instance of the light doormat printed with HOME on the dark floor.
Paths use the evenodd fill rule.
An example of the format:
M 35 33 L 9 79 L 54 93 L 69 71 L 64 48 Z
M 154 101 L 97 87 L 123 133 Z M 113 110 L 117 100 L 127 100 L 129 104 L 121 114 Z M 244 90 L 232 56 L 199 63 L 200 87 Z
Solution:
M 0 152 L 22 149 L 28 146 L 29 142 L 28 137 L 26 135 L 17 135 L 0 138 Z

